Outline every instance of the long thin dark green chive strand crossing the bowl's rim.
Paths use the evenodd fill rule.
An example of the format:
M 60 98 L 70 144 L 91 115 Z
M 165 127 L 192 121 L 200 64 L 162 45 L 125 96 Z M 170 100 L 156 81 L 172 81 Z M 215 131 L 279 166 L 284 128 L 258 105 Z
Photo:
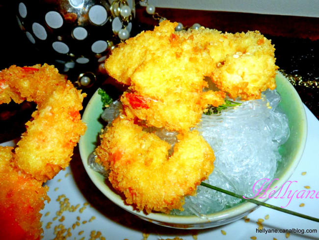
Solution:
M 247 202 L 251 202 L 251 203 L 254 203 L 256 205 L 261 205 L 261 206 L 264 206 L 266 208 L 274 209 L 274 210 L 277 210 L 277 211 L 282 211 L 282 212 L 285 212 L 285 213 L 288 213 L 288 214 L 291 214 L 291 215 L 294 215 L 294 216 L 298 216 L 298 217 L 302 217 L 302 218 L 305 218 L 305 219 L 308 219 L 308 220 L 311 220 L 311 221 L 319 222 L 319 218 L 308 216 L 308 215 L 305 215 L 305 214 L 302 214 L 302 213 L 299 213 L 299 212 L 295 212 L 295 211 L 292 211 L 292 210 L 279 208 L 277 206 L 274 206 L 274 205 L 271 205 L 271 204 L 267 204 L 267 203 L 264 203 L 264 202 L 261 202 L 261 201 L 255 200 L 255 199 L 245 199 L 245 198 L 243 198 L 241 195 L 239 195 L 237 193 L 234 193 L 234 192 L 231 192 L 231 191 L 228 191 L 228 190 L 213 186 L 213 185 L 208 184 L 206 182 L 201 182 L 201 185 L 204 186 L 204 187 L 208 187 L 208 188 L 211 188 L 213 190 L 216 190 L 218 192 L 222 192 L 222 193 L 228 194 L 230 196 L 233 196 L 233 197 L 236 197 L 236 198 L 239 198 L 239 199 L 243 199 L 243 200 L 245 200 Z

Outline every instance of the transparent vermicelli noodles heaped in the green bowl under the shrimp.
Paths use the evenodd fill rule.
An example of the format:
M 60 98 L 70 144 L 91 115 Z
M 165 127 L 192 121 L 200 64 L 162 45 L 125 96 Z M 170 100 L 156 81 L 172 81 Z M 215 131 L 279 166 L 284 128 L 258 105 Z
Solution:
M 243 101 L 240 106 L 227 108 L 220 114 L 202 115 L 197 129 L 216 157 L 213 173 L 205 182 L 252 197 L 252 186 L 257 180 L 273 178 L 281 161 L 279 147 L 287 141 L 290 133 L 288 119 L 278 106 L 280 99 L 276 90 L 266 90 L 261 99 Z M 110 123 L 121 108 L 119 101 L 114 102 L 103 113 L 106 116 L 104 119 Z M 176 132 L 155 127 L 144 130 L 157 134 L 170 143 L 172 149 L 177 142 Z M 172 149 L 169 155 L 173 153 Z M 91 165 L 100 172 L 101 166 L 92 162 Z M 198 186 L 196 196 L 185 198 L 184 211 L 172 210 L 171 213 L 195 214 L 205 218 L 206 214 L 231 207 L 239 201 L 238 198 Z

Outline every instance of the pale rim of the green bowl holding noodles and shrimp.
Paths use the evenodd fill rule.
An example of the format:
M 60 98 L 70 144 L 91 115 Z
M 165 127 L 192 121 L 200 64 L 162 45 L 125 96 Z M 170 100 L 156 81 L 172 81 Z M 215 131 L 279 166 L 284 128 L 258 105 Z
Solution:
M 300 96 L 298 95 L 297 91 L 294 89 L 292 84 L 287 80 L 287 78 L 280 72 L 277 72 L 276 79 L 279 79 L 280 83 L 284 86 L 284 88 L 289 89 L 290 93 L 292 94 L 292 97 L 296 99 L 297 101 L 295 104 L 300 109 L 300 121 L 302 124 L 300 124 L 301 128 L 301 138 L 298 145 L 298 151 L 297 154 L 294 156 L 294 161 L 292 161 L 288 166 L 286 166 L 287 170 L 284 171 L 284 173 L 280 176 L 281 178 L 276 181 L 275 185 L 281 186 L 283 185 L 289 178 L 292 176 L 292 173 L 295 171 L 295 168 L 297 167 L 301 156 L 303 154 L 303 151 L 305 149 L 306 145 L 306 139 L 307 139 L 307 118 L 306 118 L 306 112 L 304 109 L 304 105 L 300 99 Z M 280 93 L 280 92 L 279 92 Z M 83 116 L 82 120 L 86 122 L 86 120 L 90 119 L 90 108 L 93 107 L 93 103 L 98 101 L 99 94 L 98 90 L 92 95 L 91 99 L 89 100 Z M 102 103 L 101 103 L 101 111 L 102 111 Z M 256 209 L 258 206 L 256 204 L 250 203 L 250 202 L 244 202 L 239 203 L 236 206 L 233 206 L 231 208 L 209 213 L 205 215 L 206 217 L 200 218 L 196 215 L 171 215 L 171 214 L 165 214 L 165 213 L 149 213 L 145 214 L 143 211 L 137 211 L 134 210 L 133 206 L 127 205 L 125 201 L 118 195 L 116 192 L 112 191 L 107 187 L 104 180 L 102 181 L 103 184 L 101 184 L 101 177 L 102 175 L 95 172 L 94 170 L 90 169 L 87 165 L 87 157 L 91 152 L 88 152 L 88 150 L 84 146 L 84 138 L 85 135 L 80 137 L 79 141 L 79 150 L 80 150 L 80 157 L 83 163 L 83 166 L 85 168 L 86 173 L 90 177 L 90 179 L 93 181 L 95 186 L 113 203 L 118 205 L 119 207 L 137 215 L 140 216 L 143 219 L 148 219 L 152 221 L 160 221 L 170 224 L 201 224 L 201 223 L 207 223 L 207 222 L 217 222 L 224 219 L 232 218 L 239 216 L 241 214 L 244 214 L 245 212 L 252 211 Z M 271 185 L 273 186 L 274 183 Z M 259 199 L 258 197 L 254 198 L 258 201 L 265 202 L 267 199 Z

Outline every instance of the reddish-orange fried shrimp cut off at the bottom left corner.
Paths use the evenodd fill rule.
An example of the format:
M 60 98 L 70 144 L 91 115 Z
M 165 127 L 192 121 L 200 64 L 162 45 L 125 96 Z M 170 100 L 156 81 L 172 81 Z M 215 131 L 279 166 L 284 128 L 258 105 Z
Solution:
M 12 150 L 0 146 L 0 239 L 39 240 L 48 187 L 15 166 Z

